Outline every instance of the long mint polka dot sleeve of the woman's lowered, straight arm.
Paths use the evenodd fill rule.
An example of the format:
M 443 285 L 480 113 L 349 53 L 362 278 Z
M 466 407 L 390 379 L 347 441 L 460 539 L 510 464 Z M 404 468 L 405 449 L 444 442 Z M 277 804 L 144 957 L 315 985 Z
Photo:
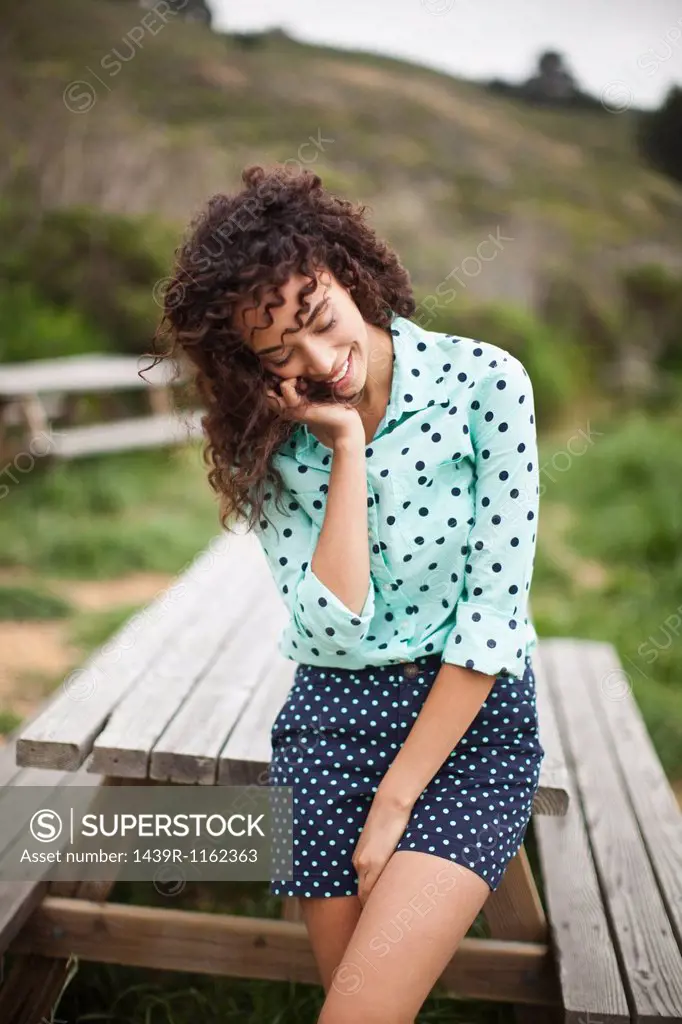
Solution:
M 441 660 L 486 675 L 521 677 L 539 511 L 532 385 L 507 353 L 470 407 L 475 513 L 466 580 Z

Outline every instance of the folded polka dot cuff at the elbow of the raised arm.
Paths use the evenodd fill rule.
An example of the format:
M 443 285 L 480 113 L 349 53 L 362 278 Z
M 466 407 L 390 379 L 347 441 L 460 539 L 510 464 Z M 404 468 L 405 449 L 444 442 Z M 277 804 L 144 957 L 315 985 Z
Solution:
M 365 604 L 360 611 L 351 611 L 336 594 L 326 587 L 308 566 L 296 594 L 294 621 L 310 639 L 334 646 L 364 640 L 375 612 L 374 583 L 370 580 Z

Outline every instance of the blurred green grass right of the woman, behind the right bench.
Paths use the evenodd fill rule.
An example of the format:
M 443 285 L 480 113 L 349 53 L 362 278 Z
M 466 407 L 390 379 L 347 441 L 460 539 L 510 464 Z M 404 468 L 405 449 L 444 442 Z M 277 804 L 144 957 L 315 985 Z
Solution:
M 577 457 L 564 438 L 543 439 L 532 584 L 541 637 L 614 644 L 673 778 L 682 777 L 681 426 L 679 412 L 595 422 Z

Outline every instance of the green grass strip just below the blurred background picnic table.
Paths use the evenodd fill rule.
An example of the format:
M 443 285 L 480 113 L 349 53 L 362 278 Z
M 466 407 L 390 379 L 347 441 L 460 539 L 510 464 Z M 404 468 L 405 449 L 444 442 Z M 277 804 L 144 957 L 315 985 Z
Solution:
M 0 565 L 106 580 L 175 572 L 219 531 L 199 447 L 44 467 L 3 504 Z

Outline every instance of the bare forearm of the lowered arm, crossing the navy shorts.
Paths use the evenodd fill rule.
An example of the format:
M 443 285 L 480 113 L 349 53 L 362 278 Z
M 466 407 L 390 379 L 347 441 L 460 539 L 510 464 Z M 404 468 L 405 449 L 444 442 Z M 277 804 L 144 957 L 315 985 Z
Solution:
M 495 680 L 443 663 L 375 799 L 413 807 L 475 719 Z

